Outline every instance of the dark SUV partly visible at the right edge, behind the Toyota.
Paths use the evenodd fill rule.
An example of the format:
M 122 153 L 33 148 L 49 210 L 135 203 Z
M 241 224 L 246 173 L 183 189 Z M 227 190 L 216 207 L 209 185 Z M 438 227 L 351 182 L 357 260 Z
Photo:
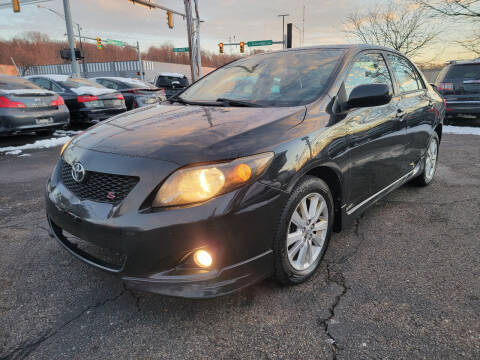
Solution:
M 480 116 L 480 59 L 453 61 L 435 81 L 447 103 L 447 115 Z

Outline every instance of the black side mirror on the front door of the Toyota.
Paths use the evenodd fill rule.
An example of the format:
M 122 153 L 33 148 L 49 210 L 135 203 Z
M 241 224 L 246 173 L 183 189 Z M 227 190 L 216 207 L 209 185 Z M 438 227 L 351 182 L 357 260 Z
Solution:
M 388 104 L 392 93 L 386 84 L 358 85 L 350 93 L 347 105 L 349 108 L 370 107 Z

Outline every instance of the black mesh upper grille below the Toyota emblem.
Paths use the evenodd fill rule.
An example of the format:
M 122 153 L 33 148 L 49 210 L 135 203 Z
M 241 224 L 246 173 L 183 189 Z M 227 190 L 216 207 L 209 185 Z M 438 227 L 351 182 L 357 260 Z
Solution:
M 62 182 L 82 200 L 118 204 L 132 191 L 138 177 L 87 171 L 78 183 L 72 177 L 72 166 L 62 160 Z

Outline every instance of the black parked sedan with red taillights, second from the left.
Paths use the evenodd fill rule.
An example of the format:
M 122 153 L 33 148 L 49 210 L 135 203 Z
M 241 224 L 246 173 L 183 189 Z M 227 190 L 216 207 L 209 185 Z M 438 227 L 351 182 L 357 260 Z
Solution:
M 55 91 L 65 100 L 72 122 L 91 122 L 108 119 L 127 111 L 123 95 L 116 90 L 68 75 L 33 75 L 28 80 Z

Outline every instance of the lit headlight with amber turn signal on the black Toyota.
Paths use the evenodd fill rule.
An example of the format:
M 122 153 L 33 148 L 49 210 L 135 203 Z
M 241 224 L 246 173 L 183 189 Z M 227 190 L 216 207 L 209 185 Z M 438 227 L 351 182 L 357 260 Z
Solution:
M 264 153 L 177 170 L 158 190 L 153 206 L 187 205 L 225 194 L 257 179 L 272 158 L 273 153 Z

